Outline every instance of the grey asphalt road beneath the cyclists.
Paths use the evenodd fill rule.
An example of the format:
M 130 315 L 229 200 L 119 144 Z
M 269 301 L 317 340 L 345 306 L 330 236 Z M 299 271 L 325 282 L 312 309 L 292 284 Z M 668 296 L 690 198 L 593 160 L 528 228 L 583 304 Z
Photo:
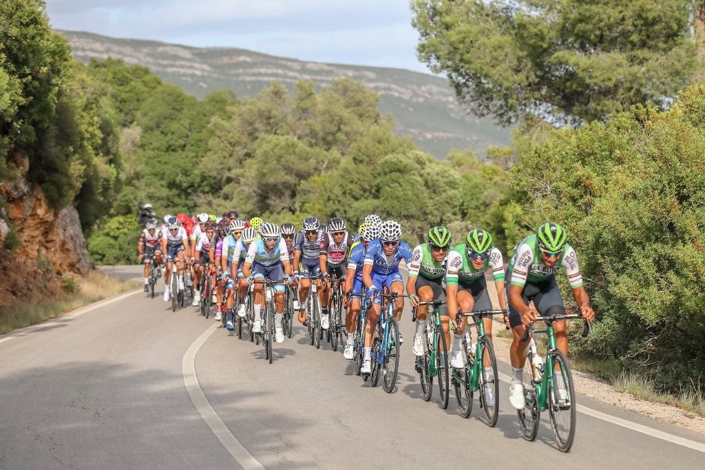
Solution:
M 408 312 L 402 332 L 410 341 Z M 303 327 L 275 354 L 269 365 L 261 346 L 142 293 L 0 337 L 0 468 L 238 468 L 233 454 L 272 469 L 703 468 L 704 436 L 588 397 L 577 401 L 591 414 L 668 440 L 578 413 L 570 454 L 554 448 L 547 415 L 537 442 L 526 442 L 505 383 L 496 428 L 477 418 L 477 403 L 461 418 L 454 396 L 448 410 L 437 390 L 424 402 L 408 341 L 393 394 L 362 382 L 329 345 L 309 346 Z M 189 391 L 191 367 L 199 387 Z

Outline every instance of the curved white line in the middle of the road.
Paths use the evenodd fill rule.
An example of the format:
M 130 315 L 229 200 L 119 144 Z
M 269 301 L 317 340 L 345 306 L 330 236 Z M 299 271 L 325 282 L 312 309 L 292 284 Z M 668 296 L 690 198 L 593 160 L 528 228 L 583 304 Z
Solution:
M 240 441 L 235 438 L 233 433 L 230 432 L 228 426 L 223 423 L 223 420 L 221 420 L 220 416 L 218 416 L 213 409 L 213 406 L 208 402 L 206 395 L 203 393 L 203 390 L 201 390 L 201 385 L 198 383 L 195 364 L 196 354 L 217 328 L 217 323 L 208 327 L 200 337 L 197 337 L 195 342 L 193 342 L 186 351 L 186 354 L 184 354 L 182 364 L 183 382 L 191 397 L 191 402 L 193 402 L 198 413 L 203 418 L 203 421 L 211 428 L 216 438 L 220 440 L 223 447 L 230 452 L 238 464 L 240 464 L 243 469 L 264 469 L 264 466 L 262 466 L 255 457 L 252 457 L 250 452 L 247 452 L 247 449 L 245 449 L 245 447 L 240 444 Z

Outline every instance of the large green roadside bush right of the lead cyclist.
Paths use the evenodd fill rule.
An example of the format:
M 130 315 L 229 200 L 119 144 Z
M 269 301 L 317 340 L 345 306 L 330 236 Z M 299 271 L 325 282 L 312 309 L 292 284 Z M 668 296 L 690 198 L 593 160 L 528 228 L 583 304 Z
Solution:
M 668 390 L 705 384 L 704 115 L 699 87 L 668 112 L 554 131 L 511 171 L 521 210 L 504 208 L 519 236 L 546 220 L 568 229 L 601 318 L 576 350 Z

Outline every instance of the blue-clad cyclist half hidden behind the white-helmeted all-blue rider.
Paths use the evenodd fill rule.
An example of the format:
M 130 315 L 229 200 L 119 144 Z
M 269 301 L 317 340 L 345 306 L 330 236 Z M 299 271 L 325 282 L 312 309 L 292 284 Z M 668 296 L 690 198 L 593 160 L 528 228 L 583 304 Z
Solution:
M 364 255 L 367 251 L 369 242 L 376 239 L 379 231 L 374 224 L 367 224 L 360 231 L 360 243 L 353 247 L 348 257 L 348 275 L 345 277 L 343 291 L 348 294 L 362 294 L 362 268 L 364 267 Z M 353 334 L 357 328 L 357 313 L 360 312 L 361 306 L 360 297 L 352 297 L 348 295 L 345 301 L 345 308 L 348 308 L 348 315 L 345 318 L 345 327 L 348 330 L 348 339 L 345 342 L 345 350 L 343 357 L 351 360 L 353 358 Z

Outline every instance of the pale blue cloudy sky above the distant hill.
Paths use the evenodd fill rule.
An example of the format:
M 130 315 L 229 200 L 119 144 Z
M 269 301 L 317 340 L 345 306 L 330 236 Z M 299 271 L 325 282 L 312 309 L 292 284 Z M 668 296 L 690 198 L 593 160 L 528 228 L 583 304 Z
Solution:
M 46 0 L 52 28 L 430 73 L 409 0 Z

